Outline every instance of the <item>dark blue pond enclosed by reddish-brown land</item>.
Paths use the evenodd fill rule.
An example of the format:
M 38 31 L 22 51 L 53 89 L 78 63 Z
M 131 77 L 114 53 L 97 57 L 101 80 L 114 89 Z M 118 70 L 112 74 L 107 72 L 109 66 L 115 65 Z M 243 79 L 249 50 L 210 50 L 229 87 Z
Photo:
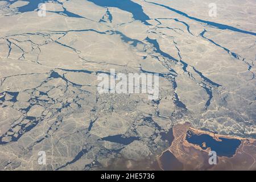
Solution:
M 218 156 L 229 158 L 236 154 L 236 150 L 241 144 L 241 140 L 238 139 L 219 138 L 221 141 L 218 141 L 210 135 L 197 135 L 193 131 L 188 131 L 186 139 L 189 143 L 199 145 L 204 150 L 210 147 L 212 151 L 217 152 Z

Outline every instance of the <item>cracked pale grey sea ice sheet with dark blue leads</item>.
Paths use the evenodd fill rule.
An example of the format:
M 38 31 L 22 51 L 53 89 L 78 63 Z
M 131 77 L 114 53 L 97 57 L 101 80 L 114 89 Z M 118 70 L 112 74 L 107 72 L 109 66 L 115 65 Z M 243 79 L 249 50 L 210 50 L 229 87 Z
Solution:
M 255 138 L 255 1 L 29 2 L 0 1 L 0 169 L 152 168 L 185 121 Z M 110 69 L 160 73 L 159 100 L 98 94 Z

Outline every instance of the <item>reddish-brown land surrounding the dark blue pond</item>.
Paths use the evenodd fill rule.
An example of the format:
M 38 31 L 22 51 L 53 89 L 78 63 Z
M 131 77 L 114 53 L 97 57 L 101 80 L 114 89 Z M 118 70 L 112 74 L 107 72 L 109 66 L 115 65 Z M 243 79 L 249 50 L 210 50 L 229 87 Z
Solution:
M 217 165 L 210 165 L 208 147 L 203 150 L 199 145 L 189 143 L 186 139 L 188 131 L 192 131 L 196 135 L 207 134 L 213 139 L 220 141 L 219 138 L 238 139 L 241 140 L 240 146 L 236 150 L 236 154 L 228 158 L 218 156 Z M 230 137 L 210 133 L 192 128 L 189 123 L 179 124 L 173 128 L 174 140 L 170 148 L 164 151 L 159 157 L 159 166 L 162 169 L 171 170 L 256 170 L 256 140 L 239 137 Z M 203 143 L 203 146 L 205 143 Z M 173 154 L 167 162 L 164 157 Z M 172 164 L 172 167 L 170 165 Z

